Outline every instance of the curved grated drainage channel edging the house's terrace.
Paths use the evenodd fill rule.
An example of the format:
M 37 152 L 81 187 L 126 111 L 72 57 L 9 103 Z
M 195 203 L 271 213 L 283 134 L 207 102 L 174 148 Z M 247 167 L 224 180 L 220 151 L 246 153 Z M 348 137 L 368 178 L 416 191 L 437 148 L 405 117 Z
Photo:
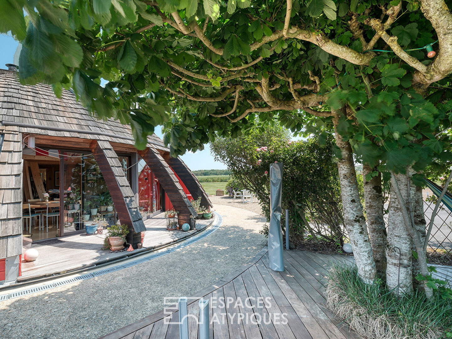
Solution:
M 217 216 L 217 223 L 214 226 L 209 227 L 209 229 L 207 231 L 202 231 L 200 233 L 200 235 L 197 236 L 193 236 L 188 238 L 188 240 L 183 240 L 181 242 L 179 242 L 177 245 L 169 245 L 168 247 L 165 247 L 163 249 L 157 250 L 155 251 L 155 253 L 149 255 L 146 253 L 143 253 L 141 255 L 137 255 L 137 257 L 135 258 L 140 258 L 140 259 L 135 259 L 135 258 L 124 258 L 123 260 L 121 260 L 123 262 L 123 264 L 120 265 L 116 265 L 118 262 L 115 263 L 106 263 L 103 266 L 107 267 L 98 271 L 94 271 L 94 272 L 88 272 L 88 270 L 84 270 L 82 273 L 85 274 L 80 274 L 80 275 L 73 275 L 70 278 L 65 278 L 65 279 L 54 279 L 54 282 L 51 283 L 46 283 L 46 284 L 39 284 L 38 286 L 34 286 L 34 287 L 30 287 L 30 288 L 26 288 L 26 289 L 21 289 L 21 288 L 14 288 L 12 287 L 12 291 L 6 294 L 0 294 L 0 301 L 5 301 L 8 299 L 13 299 L 13 298 L 17 298 L 17 297 L 22 297 L 28 294 L 33 294 L 33 293 L 37 293 L 37 292 L 42 292 L 42 291 L 46 291 L 52 288 L 56 288 L 56 287 L 60 287 L 63 285 L 67 285 L 67 284 L 71 284 L 74 282 L 79 282 L 82 280 L 87 280 L 87 279 L 91 279 L 91 278 L 95 278 L 95 277 L 99 277 L 101 275 L 107 274 L 107 273 L 112 273 L 115 271 L 119 271 L 121 269 L 124 268 L 129 268 L 138 264 L 142 264 L 145 263 L 146 261 L 150 261 L 156 258 L 159 258 L 161 256 L 164 256 L 166 254 L 170 254 L 174 251 L 180 250 L 186 246 L 189 246 L 199 240 L 204 239 L 205 237 L 207 237 L 208 235 L 211 235 L 213 232 L 217 231 L 217 229 L 221 226 L 221 224 L 223 223 L 223 218 L 221 217 L 220 214 L 218 214 L 217 212 L 215 212 L 215 215 Z M 116 265 L 116 266 L 113 266 Z M 108 267 L 111 266 L 111 267 Z M 94 268 L 91 268 L 91 270 Z

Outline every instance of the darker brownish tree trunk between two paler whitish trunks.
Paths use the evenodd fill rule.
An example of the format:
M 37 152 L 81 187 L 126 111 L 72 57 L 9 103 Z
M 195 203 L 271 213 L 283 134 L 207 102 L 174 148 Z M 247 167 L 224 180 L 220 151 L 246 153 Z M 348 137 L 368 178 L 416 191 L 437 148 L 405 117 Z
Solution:
M 372 173 L 373 170 L 370 166 L 363 165 L 364 201 L 373 258 L 377 272 L 384 276 L 386 274 L 386 226 L 383 219 L 381 173 L 378 172 L 377 176 L 366 180 L 367 174 Z

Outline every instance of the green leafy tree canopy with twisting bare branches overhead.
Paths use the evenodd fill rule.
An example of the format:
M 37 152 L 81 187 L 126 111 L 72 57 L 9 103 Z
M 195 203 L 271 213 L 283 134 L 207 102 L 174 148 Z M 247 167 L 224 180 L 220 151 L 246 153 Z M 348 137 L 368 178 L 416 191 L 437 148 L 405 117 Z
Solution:
M 306 133 L 337 119 L 365 161 L 422 167 L 450 127 L 448 3 L 4 0 L 0 31 L 23 44 L 22 81 L 73 88 L 140 147 L 162 123 L 179 155 L 275 118 Z

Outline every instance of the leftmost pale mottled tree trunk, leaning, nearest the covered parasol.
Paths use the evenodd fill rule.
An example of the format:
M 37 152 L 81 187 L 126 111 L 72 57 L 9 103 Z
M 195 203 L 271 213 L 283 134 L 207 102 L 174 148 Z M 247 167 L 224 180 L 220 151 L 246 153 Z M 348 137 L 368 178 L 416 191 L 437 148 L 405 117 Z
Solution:
M 335 126 L 337 126 L 336 123 Z M 377 269 L 367 233 L 363 206 L 359 198 L 352 147 L 348 141 L 342 140 L 337 130 L 335 130 L 335 138 L 336 145 L 342 152 L 342 158 L 338 159 L 338 171 L 345 227 L 355 255 L 358 274 L 364 282 L 372 283 L 377 275 Z

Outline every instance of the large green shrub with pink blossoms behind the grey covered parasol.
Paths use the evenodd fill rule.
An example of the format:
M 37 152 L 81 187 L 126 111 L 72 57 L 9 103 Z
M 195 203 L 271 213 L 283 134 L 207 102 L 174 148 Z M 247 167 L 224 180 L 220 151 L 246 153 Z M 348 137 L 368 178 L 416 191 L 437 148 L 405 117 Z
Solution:
M 269 166 L 283 164 L 282 210 L 289 210 L 292 241 L 344 242 L 340 186 L 334 158 L 334 139 L 317 135 L 306 141 L 291 141 L 290 132 L 278 125 L 255 127 L 240 137 L 217 137 L 211 144 L 217 160 L 228 166 L 233 188 L 257 194 L 267 220 L 270 217 Z M 282 227 L 285 213 L 282 213 Z

